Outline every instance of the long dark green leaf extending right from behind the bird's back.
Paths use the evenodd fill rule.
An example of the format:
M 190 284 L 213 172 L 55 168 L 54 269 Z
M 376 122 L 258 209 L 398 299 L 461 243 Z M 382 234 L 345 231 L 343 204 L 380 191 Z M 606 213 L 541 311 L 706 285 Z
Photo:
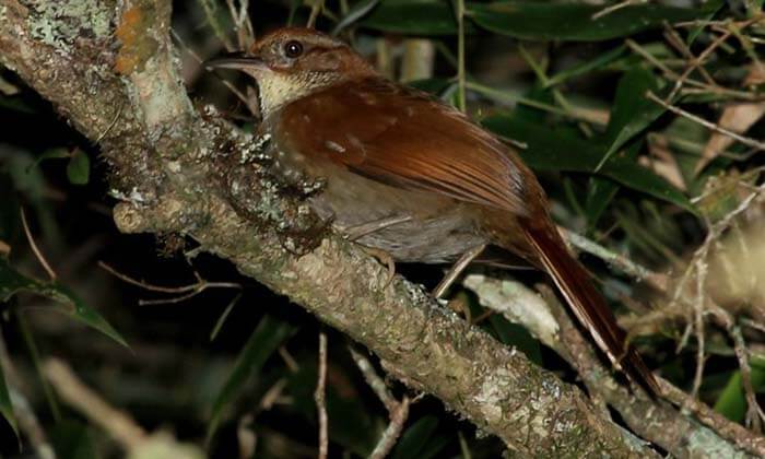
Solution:
M 528 122 L 514 115 L 492 116 L 482 123 L 506 139 L 525 143 L 527 148 L 519 151 L 520 156 L 537 170 L 596 174 L 595 169 L 602 157 L 602 145 L 562 130 Z M 651 170 L 624 160 L 619 154 L 605 163 L 598 175 L 695 212 L 680 190 Z

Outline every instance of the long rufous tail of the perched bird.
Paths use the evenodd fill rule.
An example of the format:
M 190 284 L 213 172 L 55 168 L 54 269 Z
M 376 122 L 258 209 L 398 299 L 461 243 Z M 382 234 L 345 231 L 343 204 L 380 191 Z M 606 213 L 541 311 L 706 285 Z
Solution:
M 537 249 L 539 261 L 601 351 L 635 382 L 655 395 L 660 393 L 654 374 L 635 349 L 625 342 L 626 333 L 616 323 L 605 299 L 596 290 L 587 271 L 568 252 L 557 232 L 546 225 L 526 226 L 526 236 Z

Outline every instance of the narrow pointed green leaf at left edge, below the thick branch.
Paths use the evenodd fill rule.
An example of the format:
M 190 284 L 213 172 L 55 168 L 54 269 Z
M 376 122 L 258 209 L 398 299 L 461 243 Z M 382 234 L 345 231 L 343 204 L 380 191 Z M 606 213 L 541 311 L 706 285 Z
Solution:
M 87 306 L 69 287 L 58 282 L 43 282 L 27 278 L 11 268 L 8 260 L 0 258 L 0 302 L 7 302 L 12 295 L 25 291 L 48 297 L 55 302 L 56 310 L 78 320 L 126 348 L 128 343 L 95 309 Z

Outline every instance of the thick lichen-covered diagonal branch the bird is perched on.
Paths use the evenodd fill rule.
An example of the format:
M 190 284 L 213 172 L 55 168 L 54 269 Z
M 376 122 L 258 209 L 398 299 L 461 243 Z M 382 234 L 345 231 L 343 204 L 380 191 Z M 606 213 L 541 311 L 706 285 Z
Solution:
M 252 139 L 192 110 L 168 24 L 169 1 L 0 0 L 0 61 L 101 145 L 125 198 L 115 208 L 121 231 L 192 236 L 523 456 L 652 455 L 577 388 L 421 287 L 400 278 L 388 285 L 387 271 L 354 245 L 330 235 L 294 255 L 315 220 L 268 167 L 242 164 Z

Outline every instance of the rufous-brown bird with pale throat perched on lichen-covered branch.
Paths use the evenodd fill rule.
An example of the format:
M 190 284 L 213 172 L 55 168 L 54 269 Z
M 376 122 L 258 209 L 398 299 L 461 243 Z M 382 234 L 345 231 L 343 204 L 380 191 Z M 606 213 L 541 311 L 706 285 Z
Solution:
M 285 176 L 323 177 L 311 207 L 398 261 L 454 262 L 436 296 L 487 245 L 548 272 L 611 363 L 658 393 L 605 301 L 569 255 L 517 153 L 429 95 L 385 79 L 348 45 L 282 28 L 208 62 L 258 85 L 261 129 Z

